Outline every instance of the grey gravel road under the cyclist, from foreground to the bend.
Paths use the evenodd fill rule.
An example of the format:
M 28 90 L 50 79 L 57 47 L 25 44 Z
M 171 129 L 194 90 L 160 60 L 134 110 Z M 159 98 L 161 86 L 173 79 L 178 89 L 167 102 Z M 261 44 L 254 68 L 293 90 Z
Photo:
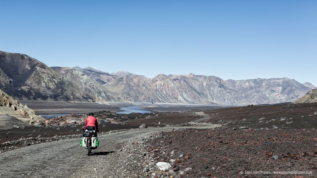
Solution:
M 114 153 L 128 140 L 173 128 L 210 129 L 219 126 L 204 123 L 187 127 L 140 129 L 101 135 L 98 137 L 100 146 L 93 150 L 93 155 L 89 157 L 87 149 L 79 146 L 79 139 L 31 145 L 6 151 L 0 155 L 2 170 L 0 177 L 120 177 L 115 170 L 118 165 L 113 165 L 111 160 L 118 159 Z M 102 172 L 102 176 L 93 175 L 91 170 Z

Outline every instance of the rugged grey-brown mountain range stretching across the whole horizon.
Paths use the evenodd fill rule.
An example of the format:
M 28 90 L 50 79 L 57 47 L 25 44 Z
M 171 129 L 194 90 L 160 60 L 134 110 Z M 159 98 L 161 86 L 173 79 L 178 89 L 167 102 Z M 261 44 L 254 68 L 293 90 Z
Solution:
M 154 78 L 92 67 L 48 67 L 19 53 L 0 51 L 0 88 L 16 99 L 256 105 L 291 102 L 316 88 L 294 79 L 223 80 L 216 76 Z

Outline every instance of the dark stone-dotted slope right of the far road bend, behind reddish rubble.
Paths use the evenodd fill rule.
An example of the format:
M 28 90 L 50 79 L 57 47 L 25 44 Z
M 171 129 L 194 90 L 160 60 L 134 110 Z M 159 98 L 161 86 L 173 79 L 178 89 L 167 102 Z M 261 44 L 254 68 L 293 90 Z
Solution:
M 312 128 L 317 125 L 317 103 L 244 106 L 204 110 L 206 122 L 223 124 L 225 128 L 279 129 Z

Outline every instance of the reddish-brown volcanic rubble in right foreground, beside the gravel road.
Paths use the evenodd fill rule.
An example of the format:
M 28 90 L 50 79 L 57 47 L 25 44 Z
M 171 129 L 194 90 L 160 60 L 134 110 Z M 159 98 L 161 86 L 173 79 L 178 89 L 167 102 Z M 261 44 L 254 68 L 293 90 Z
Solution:
M 255 177 L 245 171 L 311 172 L 304 177 L 317 174 L 316 129 L 161 132 L 144 143 L 143 152 L 144 170 L 152 178 Z M 162 171 L 157 162 L 171 167 Z M 294 177 L 259 175 L 266 176 Z

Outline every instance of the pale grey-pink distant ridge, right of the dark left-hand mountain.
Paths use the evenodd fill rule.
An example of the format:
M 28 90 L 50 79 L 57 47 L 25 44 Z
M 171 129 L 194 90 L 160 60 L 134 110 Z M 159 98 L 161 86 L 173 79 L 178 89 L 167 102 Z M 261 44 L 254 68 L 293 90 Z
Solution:
M 310 89 L 288 78 L 223 80 L 204 75 L 129 75 L 104 85 L 127 101 L 219 105 L 291 102 Z

